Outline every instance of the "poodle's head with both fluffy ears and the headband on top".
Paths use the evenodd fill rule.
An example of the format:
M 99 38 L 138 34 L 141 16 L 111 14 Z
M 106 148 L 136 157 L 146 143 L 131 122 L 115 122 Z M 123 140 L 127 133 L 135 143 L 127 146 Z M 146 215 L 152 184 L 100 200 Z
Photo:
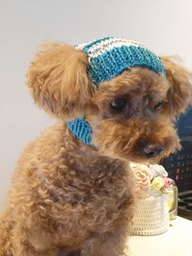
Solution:
M 134 42 L 123 40 L 111 54 L 110 40 L 79 47 L 46 42 L 30 64 L 28 86 L 46 112 L 89 124 L 91 143 L 104 155 L 159 161 L 180 148 L 174 121 L 191 104 L 190 73 Z

